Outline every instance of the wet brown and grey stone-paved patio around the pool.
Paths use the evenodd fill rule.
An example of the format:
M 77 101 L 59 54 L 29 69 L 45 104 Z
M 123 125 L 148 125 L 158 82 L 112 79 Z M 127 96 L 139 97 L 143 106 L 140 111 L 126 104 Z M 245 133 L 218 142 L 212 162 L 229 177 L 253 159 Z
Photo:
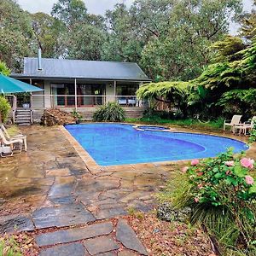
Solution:
M 58 127 L 22 130 L 28 152 L 0 159 L 0 233 L 35 230 L 44 256 L 148 254 L 122 216 L 153 209 L 182 162 L 88 167 Z

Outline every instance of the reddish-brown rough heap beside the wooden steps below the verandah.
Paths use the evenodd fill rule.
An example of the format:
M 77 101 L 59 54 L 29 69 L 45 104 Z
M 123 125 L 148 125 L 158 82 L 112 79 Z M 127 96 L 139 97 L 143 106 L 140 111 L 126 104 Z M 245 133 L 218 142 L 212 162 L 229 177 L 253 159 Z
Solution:
M 67 113 L 58 108 L 45 109 L 41 118 L 41 125 L 67 125 L 75 124 L 76 119 L 72 113 Z

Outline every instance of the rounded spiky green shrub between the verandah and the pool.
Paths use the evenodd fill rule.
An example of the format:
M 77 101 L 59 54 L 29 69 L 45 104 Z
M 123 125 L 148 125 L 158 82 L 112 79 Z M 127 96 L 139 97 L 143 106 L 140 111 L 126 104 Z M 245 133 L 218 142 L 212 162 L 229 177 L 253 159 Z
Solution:
M 121 122 L 125 120 L 125 110 L 118 103 L 108 102 L 107 105 L 97 109 L 93 114 L 94 121 Z

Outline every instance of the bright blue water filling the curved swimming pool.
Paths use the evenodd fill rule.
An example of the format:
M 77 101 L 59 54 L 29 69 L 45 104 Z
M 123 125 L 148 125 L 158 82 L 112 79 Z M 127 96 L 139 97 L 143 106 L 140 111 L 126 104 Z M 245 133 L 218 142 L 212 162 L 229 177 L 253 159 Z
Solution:
M 203 134 L 137 131 L 131 125 L 66 125 L 67 131 L 100 166 L 190 160 L 213 157 L 233 147 L 247 149 L 245 143 Z

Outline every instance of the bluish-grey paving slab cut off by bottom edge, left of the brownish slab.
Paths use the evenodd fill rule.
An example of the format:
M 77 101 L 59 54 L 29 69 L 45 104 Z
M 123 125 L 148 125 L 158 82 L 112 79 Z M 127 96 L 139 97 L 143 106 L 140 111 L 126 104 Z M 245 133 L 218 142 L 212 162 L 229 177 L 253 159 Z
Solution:
M 74 254 L 75 253 L 75 254 Z M 71 243 L 42 250 L 39 256 L 84 256 L 84 247 L 81 243 Z

